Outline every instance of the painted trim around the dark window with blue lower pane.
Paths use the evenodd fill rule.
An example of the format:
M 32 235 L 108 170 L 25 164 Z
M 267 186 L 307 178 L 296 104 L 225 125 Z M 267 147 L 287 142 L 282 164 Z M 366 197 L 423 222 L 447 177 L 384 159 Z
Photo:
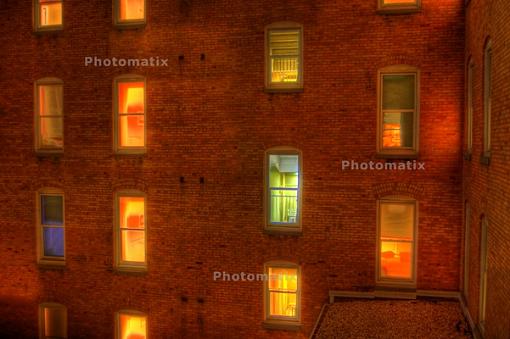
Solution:
M 62 197 L 62 228 L 64 229 L 64 256 L 47 257 L 44 255 L 44 241 L 43 241 L 43 225 L 41 220 L 41 197 L 43 195 L 61 196 Z M 65 266 L 66 264 L 66 213 L 65 213 L 65 195 L 64 192 L 57 188 L 43 188 L 36 193 L 36 211 L 37 211 L 37 263 L 45 266 Z

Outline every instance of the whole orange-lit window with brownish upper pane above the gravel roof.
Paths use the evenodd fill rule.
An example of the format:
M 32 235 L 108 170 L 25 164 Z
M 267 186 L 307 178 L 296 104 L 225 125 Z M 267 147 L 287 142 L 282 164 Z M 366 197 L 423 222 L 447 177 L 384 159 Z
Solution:
M 379 281 L 414 282 L 416 201 L 379 201 Z

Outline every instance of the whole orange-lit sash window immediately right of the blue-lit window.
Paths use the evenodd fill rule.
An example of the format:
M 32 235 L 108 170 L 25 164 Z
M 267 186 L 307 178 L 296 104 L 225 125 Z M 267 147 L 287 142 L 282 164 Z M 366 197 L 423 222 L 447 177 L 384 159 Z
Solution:
M 117 253 L 119 268 L 146 267 L 146 214 L 142 193 L 117 196 Z

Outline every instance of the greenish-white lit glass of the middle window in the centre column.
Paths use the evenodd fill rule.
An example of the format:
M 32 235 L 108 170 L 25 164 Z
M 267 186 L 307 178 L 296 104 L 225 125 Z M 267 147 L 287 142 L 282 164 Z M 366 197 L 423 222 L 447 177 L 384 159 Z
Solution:
M 295 223 L 298 218 L 299 156 L 269 156 L 270 221 Z

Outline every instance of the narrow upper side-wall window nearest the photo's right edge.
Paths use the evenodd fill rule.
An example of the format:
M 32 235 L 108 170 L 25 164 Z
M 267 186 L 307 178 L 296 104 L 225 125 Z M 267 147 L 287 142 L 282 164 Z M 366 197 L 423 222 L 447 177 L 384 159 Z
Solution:
M 483 114 L 483 152 L 489 157 L 491 151 L 491 111 L 492 111 L 492 44 L 489 41 L 485 47 L 484 67 L 484 114 Z

